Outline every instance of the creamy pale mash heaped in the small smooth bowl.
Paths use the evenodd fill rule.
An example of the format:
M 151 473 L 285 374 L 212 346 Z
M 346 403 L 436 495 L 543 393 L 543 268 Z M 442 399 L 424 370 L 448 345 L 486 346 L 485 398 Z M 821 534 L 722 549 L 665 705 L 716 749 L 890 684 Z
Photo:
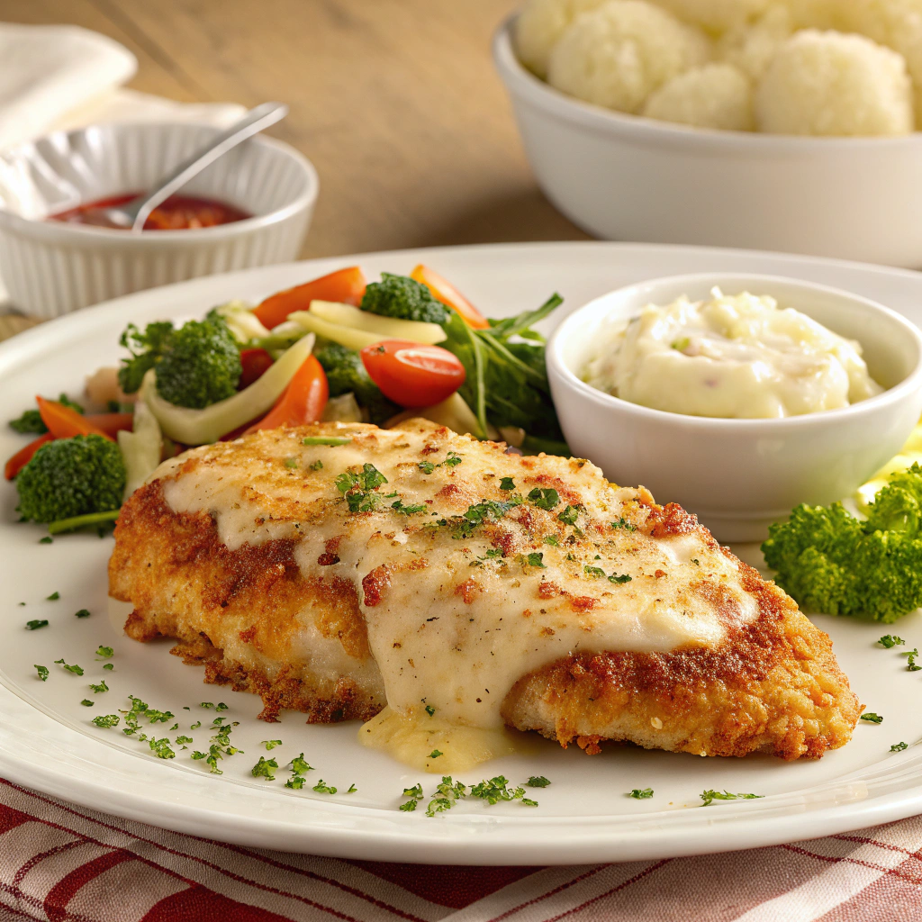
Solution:
M 597 336 L 583 379 L 644 407 L 726 419 L 782 419 L 880 394 L 861 347 L 768 296 L 649 304 Z

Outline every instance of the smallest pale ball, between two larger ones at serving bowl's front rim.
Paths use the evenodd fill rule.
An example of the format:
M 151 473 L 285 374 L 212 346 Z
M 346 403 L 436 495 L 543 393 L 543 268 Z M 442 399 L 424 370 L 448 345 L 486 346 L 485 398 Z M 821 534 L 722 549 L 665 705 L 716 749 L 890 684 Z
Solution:
M 646 100 L 643 114 L 701 128 L 751 131 L 752 84 L 731 64 L 694 67 L 657 89 Z

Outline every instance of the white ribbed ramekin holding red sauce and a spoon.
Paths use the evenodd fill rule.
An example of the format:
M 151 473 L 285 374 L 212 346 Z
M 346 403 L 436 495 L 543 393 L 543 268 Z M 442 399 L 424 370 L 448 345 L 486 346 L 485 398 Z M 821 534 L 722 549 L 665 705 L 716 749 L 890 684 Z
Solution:
M 317 174 L 297 150 L 263 136 L 183 188 L 253 218 L 141 234 L 45 220 L 79 202 L 148 188 L 219 130 L 96 125 L 0 155 L 0 278 L 13 304 L 51 318 L 132 291 L 295 259 L 317 198 Z

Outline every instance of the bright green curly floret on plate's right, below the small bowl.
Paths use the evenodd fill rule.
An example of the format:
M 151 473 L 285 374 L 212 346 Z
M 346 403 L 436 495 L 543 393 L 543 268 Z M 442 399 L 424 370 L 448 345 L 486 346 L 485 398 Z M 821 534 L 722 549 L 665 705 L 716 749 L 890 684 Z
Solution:
M 776 582 L 805 608 L 891 622 L 922 605 L 922 468 L 894 478 L 862 521 L 841 503 L 800 505 L 762 545 Z

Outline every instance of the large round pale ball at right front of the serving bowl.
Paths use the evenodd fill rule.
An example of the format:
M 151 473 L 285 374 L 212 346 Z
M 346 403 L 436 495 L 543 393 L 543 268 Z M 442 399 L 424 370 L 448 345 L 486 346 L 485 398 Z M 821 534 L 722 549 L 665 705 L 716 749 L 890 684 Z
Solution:
M 804 30 L 781 46 L 756 90 L 761 131 L 906 135 L 912 83 L 903 57 L 861 35 Z

